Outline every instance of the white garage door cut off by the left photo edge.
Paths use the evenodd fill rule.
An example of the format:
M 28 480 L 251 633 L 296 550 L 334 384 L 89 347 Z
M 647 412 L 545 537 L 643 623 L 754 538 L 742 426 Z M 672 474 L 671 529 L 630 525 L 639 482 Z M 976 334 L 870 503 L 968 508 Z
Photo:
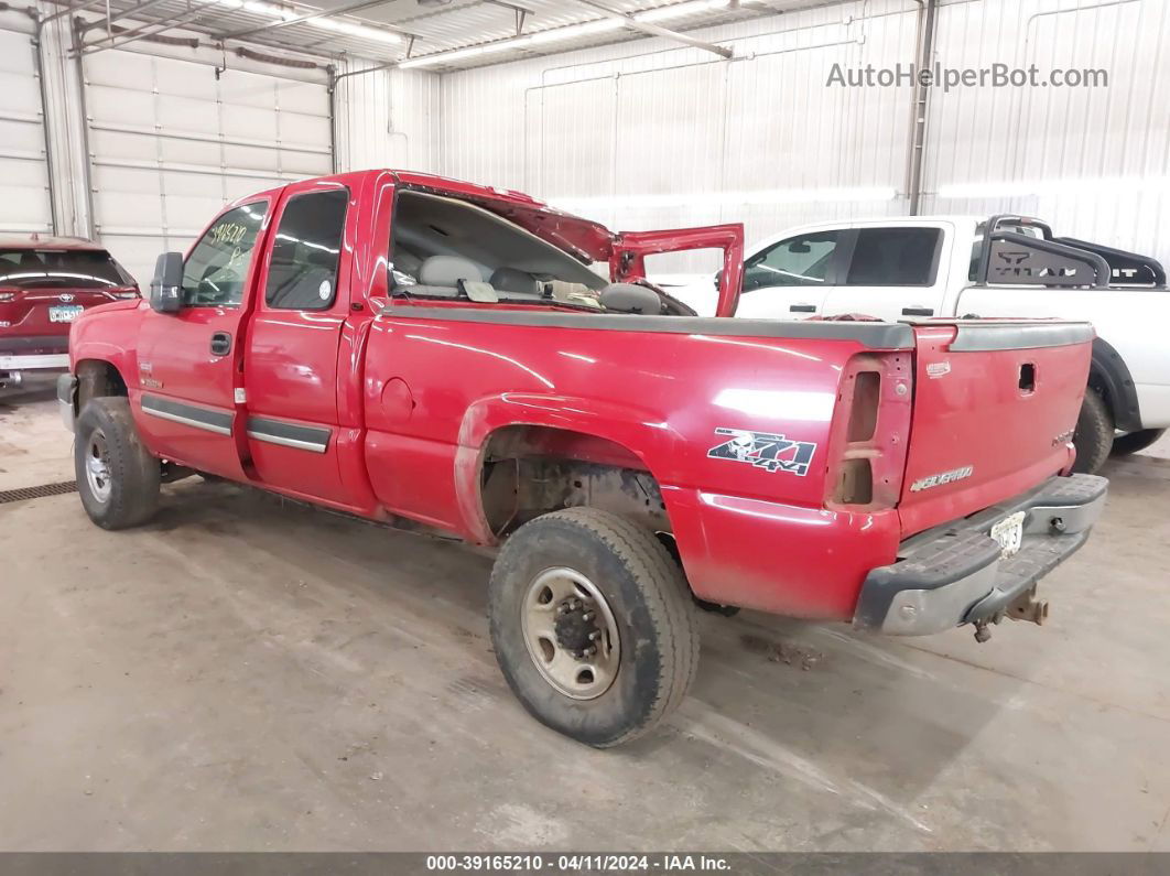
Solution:
M 0 29 L 0 232 L 51 233 L 41 83 L 30 34 Z

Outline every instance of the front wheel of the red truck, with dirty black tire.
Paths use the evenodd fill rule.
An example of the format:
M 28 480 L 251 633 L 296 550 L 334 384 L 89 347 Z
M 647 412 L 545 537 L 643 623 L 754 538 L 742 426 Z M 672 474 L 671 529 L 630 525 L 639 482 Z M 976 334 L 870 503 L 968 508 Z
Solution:
M 158 509 L 161 467 L 138 440 L 130 400 L 91 399 L 77 418 L 75 439 L 77 492 L 89 519 L 106 530 L 146 523 Z M 104 478 L 89 474 L 90 460 L 99 456 L 95 442 L 104 442 Z

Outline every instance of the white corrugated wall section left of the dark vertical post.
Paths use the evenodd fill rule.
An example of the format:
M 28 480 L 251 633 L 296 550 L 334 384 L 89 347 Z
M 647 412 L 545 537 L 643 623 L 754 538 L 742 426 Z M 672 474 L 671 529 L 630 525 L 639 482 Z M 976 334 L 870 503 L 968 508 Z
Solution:
M 445 76 L 441 170 L 624 229 L 743 221 L 759 237 L 902 212 L 909 89 L 825 81 L 834 62 L 911 60 L 917 8 L 851 2 L 694 32 L 734 47 L 730 63 L 641 40 Z

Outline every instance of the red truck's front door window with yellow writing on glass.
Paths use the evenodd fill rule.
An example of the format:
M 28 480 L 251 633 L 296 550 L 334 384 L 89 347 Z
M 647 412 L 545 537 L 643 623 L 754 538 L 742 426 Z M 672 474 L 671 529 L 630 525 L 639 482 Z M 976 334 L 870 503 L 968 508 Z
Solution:
M 268 204 L 246 204 L 215 220 L 183 268 L 183 306 L 238 308 Z

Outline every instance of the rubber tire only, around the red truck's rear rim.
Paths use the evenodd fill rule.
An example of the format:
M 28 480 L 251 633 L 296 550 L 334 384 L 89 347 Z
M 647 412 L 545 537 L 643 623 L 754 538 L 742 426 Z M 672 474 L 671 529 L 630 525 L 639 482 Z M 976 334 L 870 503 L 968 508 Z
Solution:
M 620 640 L 613 681 L 592 699 L 557 690 L 524 639 L 525 599 L 550 568 L 572 570 L 608 603 Z M 501 549 L 489 586 L 491 641 L 512 692 L 542 724 L 606 749 L 651 730 L 687 695 L 698 663 L 690 588 L 653 532 L 593 508 L 555 511 Z

